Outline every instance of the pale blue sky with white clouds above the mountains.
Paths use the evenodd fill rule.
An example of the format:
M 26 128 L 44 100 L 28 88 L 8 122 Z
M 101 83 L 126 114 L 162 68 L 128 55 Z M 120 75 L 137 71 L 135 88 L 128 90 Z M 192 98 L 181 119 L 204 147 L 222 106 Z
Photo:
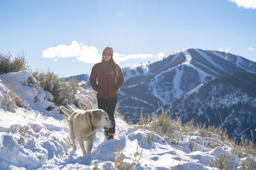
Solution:
M 60 77 L 90 74 L 105 46 L 121 67 L 184 47 L 256 62 L 255 0 L 1 0 L 0 12 L 0 53 Z

